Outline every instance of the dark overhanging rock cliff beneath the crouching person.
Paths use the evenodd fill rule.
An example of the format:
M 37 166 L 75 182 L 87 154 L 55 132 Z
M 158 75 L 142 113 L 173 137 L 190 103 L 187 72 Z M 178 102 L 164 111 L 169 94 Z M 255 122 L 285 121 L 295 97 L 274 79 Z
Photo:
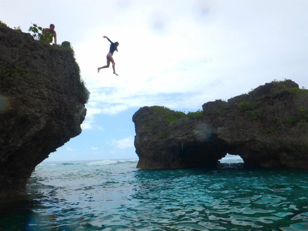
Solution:
M 0 26 L 0 198 L 24 193 L 35 166 L 81 133 L 86 109 L 70 49 Z

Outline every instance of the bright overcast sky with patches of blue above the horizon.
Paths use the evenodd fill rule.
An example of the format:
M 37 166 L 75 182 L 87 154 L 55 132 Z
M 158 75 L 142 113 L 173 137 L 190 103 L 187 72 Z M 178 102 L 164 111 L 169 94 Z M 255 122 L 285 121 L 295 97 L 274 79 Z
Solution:
M 196 111 L 265 83 L 308 88 L 308 1 L 14 1 L 0 20 L 28 33 L 55 24 L 91 92 L 83 132 L 47 159 L 136 158 L 132 115 L 143 106 Z M 112 67 L 109 42 L 119 42 Z

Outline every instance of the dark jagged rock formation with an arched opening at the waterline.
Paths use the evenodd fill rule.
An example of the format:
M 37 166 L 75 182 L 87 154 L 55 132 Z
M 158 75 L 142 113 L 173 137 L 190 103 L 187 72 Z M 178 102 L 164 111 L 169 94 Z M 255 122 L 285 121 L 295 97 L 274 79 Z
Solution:
M 248 167 L 308 169 L 308 90 L 293 81 L 202 107 L 203 115 L 172 123 L 174 111 L 140 108 L 132 118 L 137 168 L 213 166 L 229 153 Z

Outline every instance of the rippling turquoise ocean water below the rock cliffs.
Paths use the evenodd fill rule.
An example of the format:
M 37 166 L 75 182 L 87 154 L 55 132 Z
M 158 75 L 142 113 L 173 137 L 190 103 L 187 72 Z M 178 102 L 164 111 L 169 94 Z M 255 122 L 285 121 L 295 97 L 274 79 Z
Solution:
M 0 204 L 0 230 L 308 230 L 307 171 L 222 162 L 176 170 L 140 170 L 137 160 L 43 162 L 26 196 Z

